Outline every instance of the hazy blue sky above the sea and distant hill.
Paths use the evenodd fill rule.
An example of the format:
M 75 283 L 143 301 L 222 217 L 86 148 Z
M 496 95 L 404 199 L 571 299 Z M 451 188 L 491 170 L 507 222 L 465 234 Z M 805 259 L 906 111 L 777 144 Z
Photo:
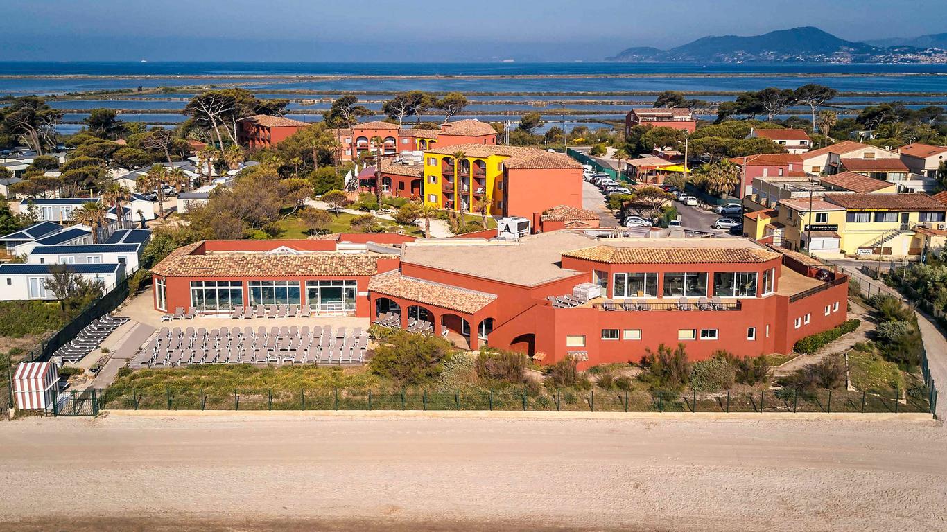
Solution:
M 945 0 L 26 0 L 0 61 L 598 61 L 629 46 L 816 26 L 852 41 L 947 28 Z

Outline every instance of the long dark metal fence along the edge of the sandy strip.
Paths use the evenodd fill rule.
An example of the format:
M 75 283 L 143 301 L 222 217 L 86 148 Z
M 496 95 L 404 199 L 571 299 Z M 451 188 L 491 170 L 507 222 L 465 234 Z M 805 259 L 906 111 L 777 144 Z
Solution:
M 902 398 L 902 395 L 904 399 Z M 381 411 L 525 411 L 525 412 L 809 412 L 931 413 L 924 397 L 893 390 L 890 394 L 819 389 L 757 389 L 718 394 L 668 394 L 647 391 L 563 389 L 530 392 L 504 390 L 411 390 L 375 392 L 343 389 L 235 389 L 206 391 L 167 388 L 116 393 L 98 390 L 86 396 L 89 409 L 112 410 L 381 410 Z M 69 403 L 75 404 L 75 403 Z M 93 406 L 94 405 L 94 406 Z M 65 415 L 68 407 L 63 407 Z M 85 412 L 88 412 L 85 411 Z

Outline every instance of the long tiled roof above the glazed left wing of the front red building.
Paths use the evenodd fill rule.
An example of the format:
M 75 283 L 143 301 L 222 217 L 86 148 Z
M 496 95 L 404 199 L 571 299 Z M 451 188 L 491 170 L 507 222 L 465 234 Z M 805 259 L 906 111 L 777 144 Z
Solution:
M 174 250 L 152 268 L 152 274 L 164 277 L 375 275 L 380 258 L 398 258 L 397 255 L 339 252 L 194 254 L 202 243 Z

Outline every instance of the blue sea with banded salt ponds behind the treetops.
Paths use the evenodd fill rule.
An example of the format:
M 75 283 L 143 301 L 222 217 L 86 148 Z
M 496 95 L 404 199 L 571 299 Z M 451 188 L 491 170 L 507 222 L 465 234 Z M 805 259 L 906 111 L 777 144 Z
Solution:
M 470 95 L 471 100 L 465 110 L 470 115 L 458 117 L 502 121 L 512 115 L 515 120 L 515 115 L 535 110 L 544 115 L 546 127 L 567 129 L 621 119 L 629 108 L 647 106 L 654 95 L 667 90 L 685 91 L 693 95 L 691 98 L 726 100 L 742 91 L 769 86 L 795 88 L 806 83 L 828 85 L 846 93 L 836 98 L 843 114 L 885 101 L 900 100 L 909 107 L 947 106 L 947 64 L 0 62 L 0 96 L 56 97 L 160 86 L 240 86 L 259 98 L 290 98 L 291 117 L 317 121 L 318 111 L 327 107 L 326 102 L 342 93 L 368 93 L 360 98 L 366 107 L 377 110 L 384 99 L 400 91 L 458 91 Z M 280 94 L 267 94 L 277 90 Z M 294 94 L 294 90 L 300 93 Z M 96 107 L 118 109 L 126 120 L 170 126 L 184 119 L 180 110 L 189 96 L 130 93 L 52 103 L 67 111 L 60 130 L 73 133 L 87 111 Z M 577 99 L 583 101 L 569 102 Z M 571 114 L 562 115 L 566 108 Z

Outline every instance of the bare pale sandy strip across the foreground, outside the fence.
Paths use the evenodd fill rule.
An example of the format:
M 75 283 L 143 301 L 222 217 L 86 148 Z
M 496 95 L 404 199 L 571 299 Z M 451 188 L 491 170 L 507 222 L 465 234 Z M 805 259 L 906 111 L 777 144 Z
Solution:
M 0 530 L 943 530 L 945 446 L 934 421 L 30 418 L 0 427 Z

